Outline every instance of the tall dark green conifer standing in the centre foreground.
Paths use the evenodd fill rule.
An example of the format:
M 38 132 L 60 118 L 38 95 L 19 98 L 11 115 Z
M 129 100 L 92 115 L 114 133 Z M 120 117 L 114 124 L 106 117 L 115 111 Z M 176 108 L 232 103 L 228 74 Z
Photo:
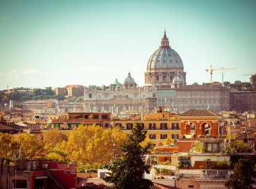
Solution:
M 147 131 L 136 123 L 131 133 L 129 140 L 121 145 L 123 157 L 108 167 L 111 172 L 103 179 L 113 183 L 113 188 L 150 188 L 152 182 L 142 178 L 144 172 L 149 173 L 150 166 L 143 162 L 142 155 L 148 152 L 150 144 L 146 147 L 139 144 L 146 138 Z

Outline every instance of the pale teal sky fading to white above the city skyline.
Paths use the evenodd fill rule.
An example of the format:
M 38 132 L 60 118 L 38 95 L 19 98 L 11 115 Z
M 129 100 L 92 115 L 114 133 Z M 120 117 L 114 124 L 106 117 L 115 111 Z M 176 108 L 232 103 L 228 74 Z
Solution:
M 0 0 L 0 90 L 102 86 L 128 72 L 143 86 L 166 29 L 187 84 L 256 74 L 256 1 Z M 222 72 L 213 80 L 222 82 Z

